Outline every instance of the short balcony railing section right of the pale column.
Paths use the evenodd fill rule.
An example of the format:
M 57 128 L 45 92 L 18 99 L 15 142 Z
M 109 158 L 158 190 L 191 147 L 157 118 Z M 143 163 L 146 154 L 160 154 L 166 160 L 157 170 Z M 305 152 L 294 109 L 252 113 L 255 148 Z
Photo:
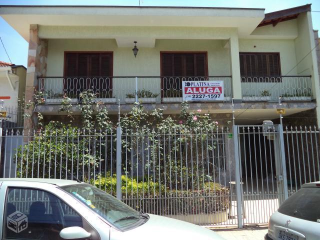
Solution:
M 241 76 L 243 101 L 310 101 L 311 76 Z

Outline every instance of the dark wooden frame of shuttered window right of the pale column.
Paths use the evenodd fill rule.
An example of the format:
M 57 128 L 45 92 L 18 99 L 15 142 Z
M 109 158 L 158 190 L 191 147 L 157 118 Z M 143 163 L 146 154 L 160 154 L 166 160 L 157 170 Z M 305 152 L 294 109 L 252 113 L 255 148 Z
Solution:
M 241 78 L 241 82 L 248 82 L 246 80 L 242 80 L 242 77 L 251 77 L 252 81 L 250 82 L 265 82 L 263 79 L 268 77 L 269 81 L 268 82 L 282 82 L 282 75 L 281 75 L 281 60 L 280 60 L 280 52 L 259 52 L 259 51 L 239 51 L 239 67 L 241 66 L 241 62 L 240 62 L 240 55 L 263 55 L 263 54 L 273 54 L 273 55 L 277 55 L 277 63 L 278 63 L 278 68 L 279 68 L 279 74 L 278 75 L 242 75 L 241 74 L 241 70 L 240 70 L 240 78 Z M 267 61 L 268 64 L 268 61 Z M 257 62 L 256 62 L 257 65 Z M 243 62 L 243 67 L 246 66 L 246 61 Z M 268 64 L 268 68 L 267 71 L 270 71 L 270 67 Z M 263 78 L 263 79 L 261 79 Z M 250 83 L 249 82 L 249 83 Z

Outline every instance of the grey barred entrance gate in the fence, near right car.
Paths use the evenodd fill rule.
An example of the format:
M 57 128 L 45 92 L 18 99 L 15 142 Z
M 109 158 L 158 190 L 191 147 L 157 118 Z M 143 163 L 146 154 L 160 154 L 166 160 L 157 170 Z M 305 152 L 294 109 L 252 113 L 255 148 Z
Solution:
M 267 223 L 288 195 L 282 127 L 238 125 L 235 131 L 239 169 L 236 184 L 241 193 L 237 210 L 242 212 L 242 217 L 238 214 L 239 225 Z

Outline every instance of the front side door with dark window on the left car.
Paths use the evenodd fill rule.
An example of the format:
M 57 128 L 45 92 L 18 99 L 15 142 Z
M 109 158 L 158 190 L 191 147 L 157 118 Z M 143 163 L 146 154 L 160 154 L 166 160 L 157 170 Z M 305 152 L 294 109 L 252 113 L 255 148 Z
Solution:
M 108 234 L 105 237 L 103 233 L 103 238 L 100 238 L 98 230 L 90 224 L 95 222 L 95 216 L 90 217 L 89 223 L 78 209 L 71 207 L 76 205 L 70 202 L 72 199 L 68 201 L 71 204 L 67 204 L 65 198 L 62 200 L 58 194 L 48 191 L 47 187 L 19 186 L 15 183 L 7 184 L 5 188 L 5 192 L 0 189 L 3 200 L 2 239 L 62 240 L 60 230 L 70 226 L 84 228 L 91 233 L 92 240 L 108 239 Z M 56 192 L 61 191 L 54 188 Z

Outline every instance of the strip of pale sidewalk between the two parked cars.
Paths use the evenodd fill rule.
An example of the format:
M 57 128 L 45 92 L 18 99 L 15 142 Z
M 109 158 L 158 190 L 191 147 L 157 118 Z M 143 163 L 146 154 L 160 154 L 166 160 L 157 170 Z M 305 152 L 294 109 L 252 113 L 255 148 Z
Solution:
M 219 228 L 212 229 L 214 232 L 227 240 L 263 240 L 268 232 L 267 226 L 254 226 L 246 228 Z

